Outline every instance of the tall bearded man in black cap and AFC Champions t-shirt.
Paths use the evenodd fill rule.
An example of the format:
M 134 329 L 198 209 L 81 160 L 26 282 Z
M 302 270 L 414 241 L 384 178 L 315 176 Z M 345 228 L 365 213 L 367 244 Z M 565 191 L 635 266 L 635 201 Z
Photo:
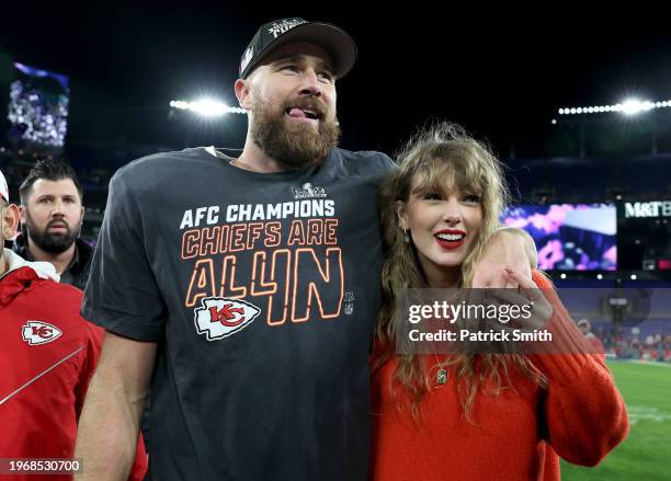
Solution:
M 379 152 L 337 147 L 356 47 L 302 19 L 263 25 L 235 91 L 240 157 L 194 148 L 121 169 L 82 314 L 107 331 L 76 456 L 122 479 L 151 381 L 163 480 L 365 480 L 379 308 Z

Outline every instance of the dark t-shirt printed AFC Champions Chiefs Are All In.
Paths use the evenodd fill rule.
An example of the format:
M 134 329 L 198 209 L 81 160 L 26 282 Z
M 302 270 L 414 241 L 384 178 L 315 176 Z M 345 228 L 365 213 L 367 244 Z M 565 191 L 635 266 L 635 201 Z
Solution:
M 159 344 L 155 479 L 366 479 L 391 168 L 334 149 L 262 174 L 196 148 L 114 175 L 82 314 Z

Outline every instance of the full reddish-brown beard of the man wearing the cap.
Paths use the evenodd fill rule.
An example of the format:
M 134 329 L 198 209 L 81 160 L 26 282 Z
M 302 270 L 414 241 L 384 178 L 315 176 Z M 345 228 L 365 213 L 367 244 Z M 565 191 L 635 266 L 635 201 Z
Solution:
M 318 114 L 319 127 L 286 119 L 291 107 L 310 110 Z M 252 105 L 252 139 L 269 157 L 288 168 L 321 163 L 338 145 L 338 118 L 326 119 L 323 105 L 314 98 L 285 102 L 278 108 L 257 101 Z

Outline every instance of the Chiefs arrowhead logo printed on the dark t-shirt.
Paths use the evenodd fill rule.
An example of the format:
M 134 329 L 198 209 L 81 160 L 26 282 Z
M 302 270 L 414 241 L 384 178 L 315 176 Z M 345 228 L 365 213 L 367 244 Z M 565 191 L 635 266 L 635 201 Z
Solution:
M 261 312 L 253 304 L 226 297 L 207 297 L 203 307 L 194 309 L 194 322 L 198 334 L 207 341 L 228 337 L 247 328 Z

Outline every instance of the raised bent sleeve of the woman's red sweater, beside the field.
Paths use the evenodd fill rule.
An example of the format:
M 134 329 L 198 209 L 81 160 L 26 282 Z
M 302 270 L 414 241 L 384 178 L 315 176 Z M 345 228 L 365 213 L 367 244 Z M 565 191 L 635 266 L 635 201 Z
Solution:
M 570 318 L 548 279 L 533 274 L 553 306 L 547 330 L 554 352 L 528 355 L 548 378 L 544 414 L 546 437 L 569 462 L 598 465 L 629 433 L 626 406 L 602 356 L 593 350 Z

